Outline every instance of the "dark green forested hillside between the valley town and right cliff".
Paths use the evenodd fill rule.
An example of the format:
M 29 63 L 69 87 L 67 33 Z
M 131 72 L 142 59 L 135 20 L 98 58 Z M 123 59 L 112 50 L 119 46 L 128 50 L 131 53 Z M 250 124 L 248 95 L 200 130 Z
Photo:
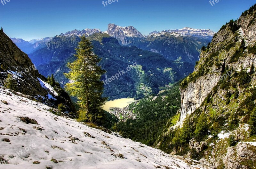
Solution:
M 119 131 L 123 137 L 154 145 L 158 137 L 179 120 L 179 83 L 160 95 L 151 95 L 130 104 L 129 109 L 137 114 L 137 119 L 120 122 L 114 130 Z

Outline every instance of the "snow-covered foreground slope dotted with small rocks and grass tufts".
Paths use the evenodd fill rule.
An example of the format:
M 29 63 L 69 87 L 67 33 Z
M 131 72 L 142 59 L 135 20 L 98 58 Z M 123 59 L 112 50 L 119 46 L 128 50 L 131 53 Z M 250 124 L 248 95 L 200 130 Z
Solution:
M 0 168 L 204 168 L 49 109 L 0 87 Z

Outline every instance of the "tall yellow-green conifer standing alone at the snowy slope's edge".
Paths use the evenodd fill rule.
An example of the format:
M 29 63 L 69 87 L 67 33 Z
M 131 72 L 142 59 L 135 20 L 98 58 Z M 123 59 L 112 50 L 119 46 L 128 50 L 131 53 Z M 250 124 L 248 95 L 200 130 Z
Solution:
M 77 97 L 80 109 L 78 111 L 80 121 L 95 122 L 102 114 L 102 106 L 106 98 L 102 98 L 103 82 L 101 76 L 106 72 L 98 65 L 101 59 L 92 52 L 93 46 L 85 36 L 76 48 L 76 60 L 68 63 L 70 72 L 65 76 L 72 81 L 66 84 L 66 90 L 71 96 Z

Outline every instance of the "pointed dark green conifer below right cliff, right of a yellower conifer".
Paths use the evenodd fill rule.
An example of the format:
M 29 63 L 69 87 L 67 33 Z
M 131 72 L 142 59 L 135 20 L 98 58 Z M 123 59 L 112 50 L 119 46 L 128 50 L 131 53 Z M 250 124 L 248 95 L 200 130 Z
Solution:
M 197 141 L 200 141 L 208 132 L 208 118 L 203 112 L 198 118 L 196 123 L 195 137 Z

